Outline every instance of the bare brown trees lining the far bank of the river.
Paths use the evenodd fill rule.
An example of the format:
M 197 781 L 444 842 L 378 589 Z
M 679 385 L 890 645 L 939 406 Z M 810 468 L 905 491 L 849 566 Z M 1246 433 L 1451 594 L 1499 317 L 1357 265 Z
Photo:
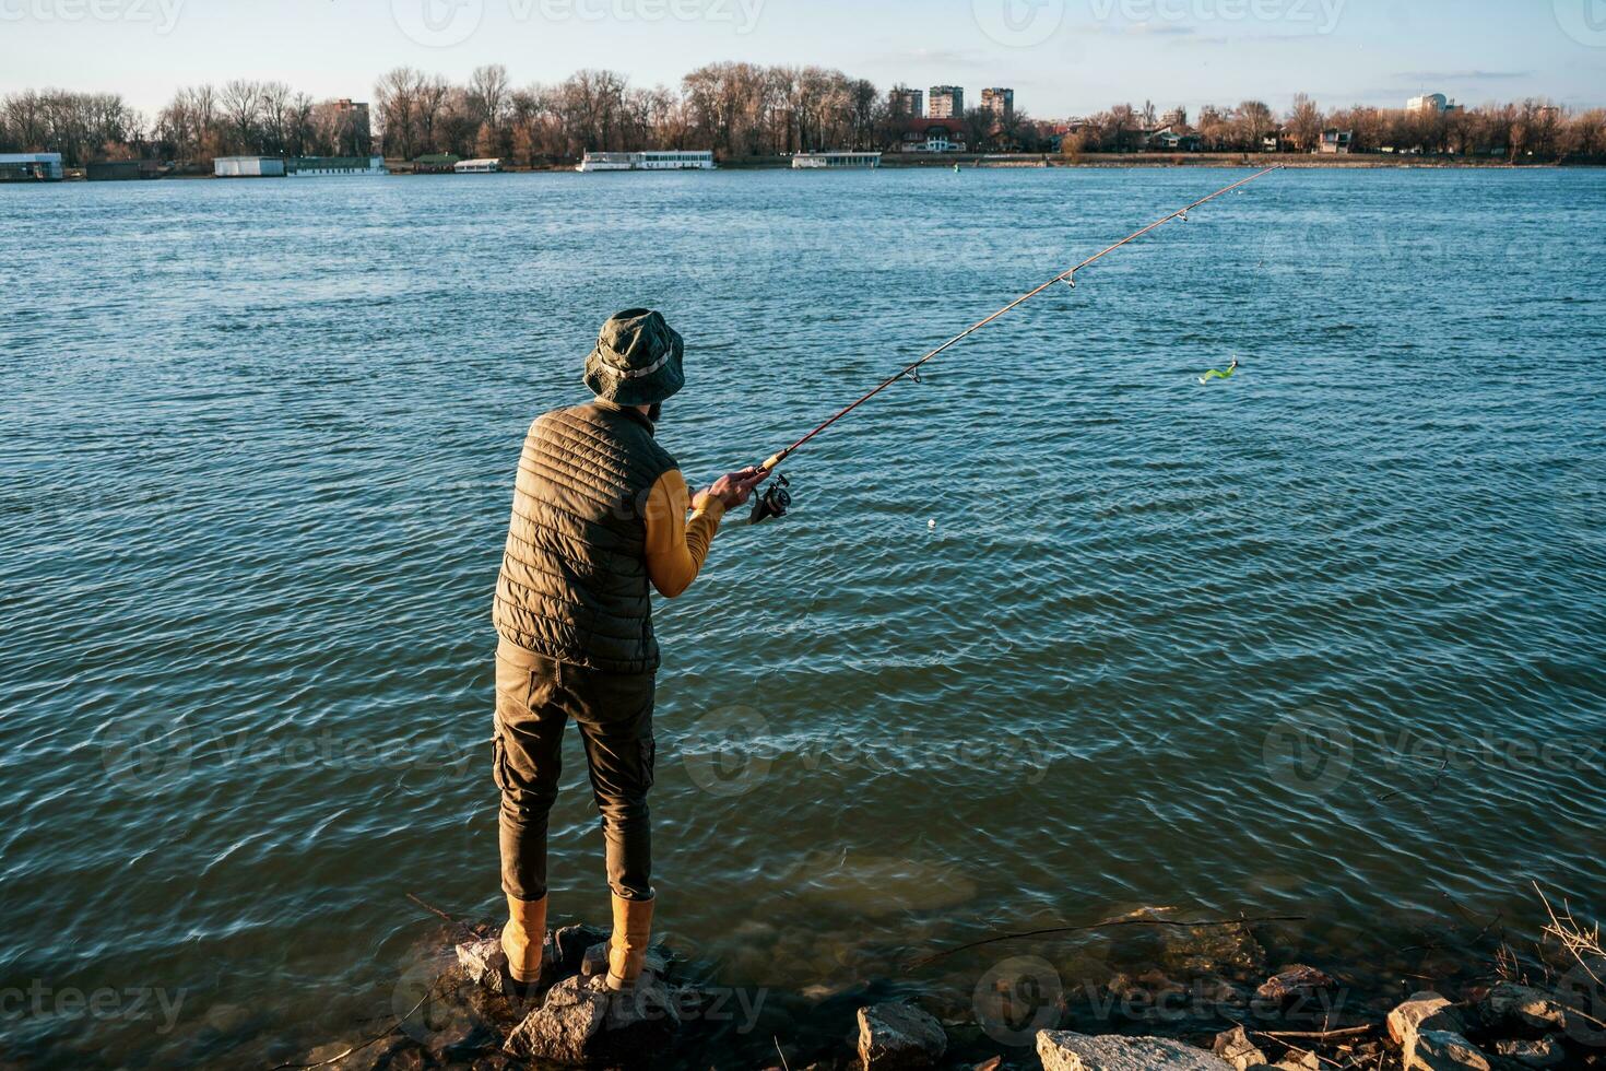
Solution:
M 896 98 L 866 79 L 816 66 L 716 63 L 675 88 L 633 87 L 617 71 L 578 71 L 562 82 L 516 87 L 488 64 L 464 83 L 395 67 L 373 87 L 368 109 L 315 101 L 284 82 L 236 79 L 178 90 L 146 117 L 116 93 L 24 90 L 0 98 L 0 151 L 56 151 L 69 167 L 92 159 L 164 159 L 206 164 L 217 156 L 365 156 L 416 159 L 427 153 L 501 157 L 540 165 L 586 151 L 713 149 L 721 159 L 805 149 L 893 149 L 917 117 L 893 111 Z M 1116 104 L 1068 122 L 1021 111 L 972 108 L 956 140 L 972 149 L 1137 153 L 1164 145 L 1160 128 L 1201 151 L 1261 151 L 1267 138 L 1312 151 L 1322 132 L 1349 130 L 1352 151 L 1600 159 L 1606 111 L 1569 112 L 1527 100 L 1473 109 L 1405 111 L 1347 106 L 1323 111 L 1306 95 L 1278 114 L 1264 101 L 1160 112 Z

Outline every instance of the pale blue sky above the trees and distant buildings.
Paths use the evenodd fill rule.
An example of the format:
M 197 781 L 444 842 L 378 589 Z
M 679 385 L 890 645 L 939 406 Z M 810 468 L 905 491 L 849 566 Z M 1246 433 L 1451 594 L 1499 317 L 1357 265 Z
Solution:
M 1584 108 L 1606 103 L 1606 0 L 0 0 L 0 93 L 106 90 L 148 112 L 238 77 L 369 100 L 400 64 L 675 85 L 721 59 L 964 85 L 968 101 L 1005 85 L 1042 119 L 1145 100 L 1285 109 L 1298 92 Z

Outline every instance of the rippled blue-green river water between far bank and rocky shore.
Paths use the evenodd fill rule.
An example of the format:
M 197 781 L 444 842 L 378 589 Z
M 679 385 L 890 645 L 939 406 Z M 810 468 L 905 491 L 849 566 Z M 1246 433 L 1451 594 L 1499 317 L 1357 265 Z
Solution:
M 684 332 L 660 440 L 707 482 L 1238 177 L 0 191 L 0 1057 L 300 1058 L 411 992 L 406 893 L 495 915 L 512 475 L 610 312 Z M 1601 172 L 1280 172 L 819 438 L 657 607 L 660 931 L 968 999 L 1119 943 L 904 963 L 1150 907 L 1405 976 L 1532 938 L 1531 880 L 1588 907 L 1603 236 Z M 554 920 L 604 920 L 565 756 Z

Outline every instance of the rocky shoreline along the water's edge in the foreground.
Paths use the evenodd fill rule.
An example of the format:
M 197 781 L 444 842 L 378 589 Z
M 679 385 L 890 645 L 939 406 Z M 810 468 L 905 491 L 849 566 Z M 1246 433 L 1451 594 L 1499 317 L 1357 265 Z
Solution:
M 1606 1015 L 1588 957 L 1572 970 L 1465 971 L 1405 992 L 1306 963 L 1269 965 L 1249 923 L 1153 925 L 1153 960 L 1050 992 L 1029 955 L 967 1004 L 878 979 L 848 989 L 732 989 L 655 946 L 628 996 L 602 984 L 607 933 L 548 935 L 543 989 L 511 994 L 490 925 L 440 935 L 438 973 L 384 1034 L 332 1042 L 284 1068 L 973 1068 L 1009 1071 L 1524 1071 L 1606 1068 Z M 1012 967 L 1013 965 L 1013 967 Z M 1566 960 L 1561 962 L 1566 965 Z M 1500 975 L 1510 975 L 1502 978 Z M 1532 983 L 1532 984 L 1531 984 Z M 411 996 L 411 994 L 408 994 Z M 402 1013 L 405 1012 L 405 1013 Z

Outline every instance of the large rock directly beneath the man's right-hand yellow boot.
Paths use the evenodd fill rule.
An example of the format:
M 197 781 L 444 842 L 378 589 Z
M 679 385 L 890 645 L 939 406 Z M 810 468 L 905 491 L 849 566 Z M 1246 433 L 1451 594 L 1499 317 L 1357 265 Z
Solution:
M 512 1029 L 503 1050 L 556 1063 L 639 1057 L 666 1047 L 679 1024 L 675 994 L 655 976 L 610 992 L 602 976 L 570 975 Z

